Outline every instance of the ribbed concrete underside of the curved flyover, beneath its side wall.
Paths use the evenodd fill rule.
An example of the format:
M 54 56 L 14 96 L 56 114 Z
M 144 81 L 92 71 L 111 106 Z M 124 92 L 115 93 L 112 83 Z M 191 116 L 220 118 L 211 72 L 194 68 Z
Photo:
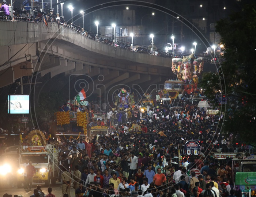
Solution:
M 118 89 L 125 85 L 139 85 L 144 89 L 149 84 L 163 84 L 172 77 L 168 67 L 159 68 L 96 54 L 63 40 L 39 42 L 37 49 L 39 58 L 34 64 L 34 71 L 40 77 L 47 75 L 49 80 L 51 78 L 50 83 L 55 81 L 52 90 L 67 89 L 80 81 L 84 84 L 80 88 L 87 86 L 88 92 L 102 95 L 113 86 Z M 60 77 L 65 78 L 65 82 L 59 84 Z

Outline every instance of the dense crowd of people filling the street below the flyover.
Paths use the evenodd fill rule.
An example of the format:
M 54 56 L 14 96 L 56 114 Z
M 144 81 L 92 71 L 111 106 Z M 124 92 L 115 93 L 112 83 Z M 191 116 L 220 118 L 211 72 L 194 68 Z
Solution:
M 222 136 L 221 115 L 207 115 L 183 96 L 180 102 L 177 108 L 156 102 L 142 119 L 136 108 L 125 111 L 127 122 L 118 121 L 109 136 L 52 139 L 59 150 L 63 195 L 74 191 L 76 197 L 234 196 L 231 158 L 218 160 L 212 155 L 249 150 L 234 147 L 232 135 Z M 88 124 L 111 127 L 114 113 L 109 110 L 106 122 Z M 200 155 L 183 154 L 188 140 L 199 142 Z

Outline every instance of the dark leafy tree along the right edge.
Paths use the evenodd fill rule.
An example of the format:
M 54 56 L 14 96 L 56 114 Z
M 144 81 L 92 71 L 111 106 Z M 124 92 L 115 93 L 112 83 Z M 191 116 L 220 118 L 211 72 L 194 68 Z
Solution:
M 222 108 L 223 134 L 256 144 L 256 2 L 240 3 L 241 11 L 217 22 L 216 31 L 225 48 L 224 61 L 218 73 L 204 74 L 201 85 L 211 98 L 216 90 L 227 97 Z

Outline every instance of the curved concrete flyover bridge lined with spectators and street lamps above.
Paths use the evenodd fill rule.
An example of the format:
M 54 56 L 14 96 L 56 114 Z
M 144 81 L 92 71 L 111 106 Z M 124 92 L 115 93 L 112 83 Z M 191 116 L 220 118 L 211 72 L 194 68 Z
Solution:
M 163 84 L 172 59 L 107 45 L 55 22 L 0 21 L 0 87 L 23 76 L 99 79 L 117 84 Z M 90 82 L 91 84 L 93 83 Z

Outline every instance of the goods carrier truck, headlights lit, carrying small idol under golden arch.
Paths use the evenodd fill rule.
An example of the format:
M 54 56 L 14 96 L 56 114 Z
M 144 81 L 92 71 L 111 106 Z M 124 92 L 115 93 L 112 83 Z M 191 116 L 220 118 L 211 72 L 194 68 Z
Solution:
M 49 137 L 48 137 L 49 139 Z M 26 145 L 20 148 L 19 169 L 17 172 L 17 187 L 21 188 L 24 182 L 24 173 L 26 160 L 32 161 L 35 167 L 33 182 L 45 182 L 45 186 L 49 187 L 56 184 L 59 172 L 58 150 L 51 144 L 47 144 L 45 135 L 38 130 L 33 130 L 25 138 Z

